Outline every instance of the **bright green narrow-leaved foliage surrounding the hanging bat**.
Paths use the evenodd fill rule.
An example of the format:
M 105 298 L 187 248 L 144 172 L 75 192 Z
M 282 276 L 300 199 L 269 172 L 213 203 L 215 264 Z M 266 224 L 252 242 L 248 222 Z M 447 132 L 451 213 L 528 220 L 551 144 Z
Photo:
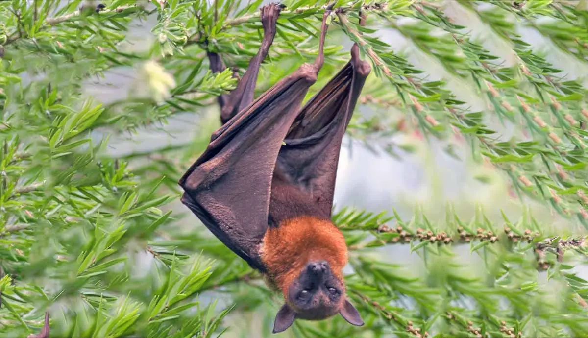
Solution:
M 203 226 L 181 222 L 196 217 L 171 207 L 179 176 L 218 119 L 201 119 L 197 135 L 177 145 L 106 151 L 109 136 L 216 109 L 215 96 L 236 81 L 231 69 L 208 71 L 206 51 L 242 74 L 259 47 L 261 3 L 112 0 L 96 9 L 93 1 L 0 1 L 2 336 L 39 332 L 46 310 L 55 337 L 250 336 L 242 318 L 259 324 L 247 326 L 255 336 L 269 336 L 278 296 Z M 327 2 L 285 4 L 258 94 L 317 53 Z M 450 18 L 449 5 L 482 22 L 511 58 L 487 50 Z M 565 76 L 519 34 L 533 29 L 553 43 L 550 53 L 586 66 L 586 1 L 339 0 L 335 8 L 326 64 L 309 96 L 348 59 L 338 41 L 358 42 L 374 69 L 360 109 L 376 113 L 356 113 L 349 135 L 366 143 L 424 135 L 499 172 L 510 198 L 588 225 L 588 79 Z M 129 30 L 149 18 L 152 43 L 132 48 Z M 445 78 L 412 65 L 383 41 L 382 28 L 436 61 Z M 88 81 L 119 69 L 136 73 L 128 97 L 85 93 Z M 483 108 L 449 89 L 455 81 L 473 88 Z M 488 208 L 470 220 L 452 205 L 440 220 L 420 209 L 410 220 L 394 210 L 338 210 L 333 222 L 350 249 L 348 296 L 366 325 L 298 321 L 282 336 L 586 336 L 579 231 L 550 229 L 527 210 L 519 220 L 490 220 Z M 396 249 L 416 253 L 419 264 L 393 263 Z M 476 266 L 463 259 L 474 253 Z

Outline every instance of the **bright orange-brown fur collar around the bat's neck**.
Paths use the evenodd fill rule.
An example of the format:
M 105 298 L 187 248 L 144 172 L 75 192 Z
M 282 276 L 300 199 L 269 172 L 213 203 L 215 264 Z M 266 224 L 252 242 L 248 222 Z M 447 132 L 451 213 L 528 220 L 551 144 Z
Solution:
M 343 234 L 329 220 L 312 216 L 287 219 L 268 229 L 260 253 L 268 271 L 266 280 L 283 295 L 310 261 L 326 260 L 340 279 L 347 264 Z

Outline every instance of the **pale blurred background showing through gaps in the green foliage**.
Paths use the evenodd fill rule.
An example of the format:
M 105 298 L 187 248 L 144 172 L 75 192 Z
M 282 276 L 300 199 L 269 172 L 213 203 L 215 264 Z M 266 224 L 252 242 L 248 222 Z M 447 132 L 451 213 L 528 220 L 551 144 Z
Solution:
M 32 1 L 28 3 L 29 5 L 34 4 Z M 399 3 L 400 1 L 386 2 L 390 8 Z M 503 3 L 507 6 L 513 6 L 511 3 L 514 2 L 504 1 Z M 522 3 L 526 4 L 527 2 L 523 1 Z M 545 3 L 551 4 L 552 2 Z M 214 1 L 208 0 L 208 6 L 214 4 Z M 259 6 L 265 4 L 269 4 L 269 1 L 258 3 Z M 62 5 L 66 6 L 67 4 L 64 2 Z M 92 5 L 96 5 L 96 3 L 92 2 Z M 233 10 L 236 12 L 239 9 L 245 9 L 247 5 L 246 2 L 242 2 Z M 311 2 L 306 5 L 313 6 Z M 502 68 L 517 68 L 521 56 L 513 49 L 513 42 L 500 36 L 496 29 L 493 29 L 488 22 L 483 21 L 479 15 L 480 12 L 495 11 L 497 5 L 494 2 L 416 1 L 414 4 L 411 2 L 411 5 L 430 5 L 438 9 L 452 24 L 464 26 L 465 28 L 462 30 L 469 35 L 473 42 L 483 46 L 491 55 L 497 56 L 498 59 L 493 60 L 493 64 L 500 65 Z M 581 1 L 567 1 L 565 5 L 576 6 L 576 8 L 580 8 L 579 11 L 588 11 L 588 8 L 582 9 L 580 7 L 586 6 Z M 202 6 L 205 5 L 202 4 Z M 475 9 L 472 10 L 469 6 L 474 6 Z M 113 6 L 113 8 L 115 7 Z M 418 8 L 415 8 L 410 8 L 410 11 L 417 11 Z M 550 22 L 557 24 L 557 20 L 549 15 L 538 16 L 540 18 L 534 18 L 533 21 L 536 25 L 549 24 Z M 311 19 L 314 20 L 314 18 Z M 513 27 L 512 30 L 520 35 L 519 39 L 529 43 L 529 48 L 533 53 L 543 56 L 547 62 L 552 64 L 552 68 L 559 70 L 551 76 L 561 76 L 562 81 L 578 81 L 585 91 L 585 88 L 588 87 L 588 62 L 583 62 L 569 52 L 562 51 L 562 48 L 554 43 L 552 37 L 542 34 L 540 29 L 530 25 L 529 21 L 516 15 L 509 15 L 507 19 L 509 25 Z M 313 23 L 316 25 L 315 21 Z M 483 124 L 487 129 L 496 131 L 492 135 L 493 140 L 496 142 L 532 140 L 533 136 L 525 132 L 519 123 L 501 119 L 499 114 L 491 113 L 492 107 L 489 108 L 487 92 L 479 91 L 469 79 L 456 76 L 456 73 L 443 63 L 443 60 L 435 57 L 435 53 L 423 51 L 421 44 L 423 42 L 406 33 L 412 32 L 410 29 L 419 23 L 419 19 L 410 17 L 410 15 L 395 17 L 393 26 L 384 19 L 376 18 L 376 15 L 373 15 L 372 19 L 368 21 L 369 28 L 375 30 L 370 36 L 387 43 L 388 49 L 393 51 L 395 55 L 405 58 L 413 68 L 423 71 L 424 73 L 419 75 L 420 79 L 424 79 L 424 82 L 444 81 L 444 88 L 455 95 L 456 100 L 465 102 L 463 106 L 467 107 L 467 111 L 485 112 Z M 152 14 L 142 18 L 133 18 L 128 24 L 125 38 L 117 44 L 118 50 L 125 53 L 152 53 L 153 45 L 158 44 L 155 28 L 159 25 L 161 25 L 161 11 L 153 11 Z M 405 30 L 403 30 L 404 27 L 406 27 Z M 423 34 L 445 36 L 443 34 L 446 32 L 442 29 L 430 29 Z M 280 39 L 280 36 L 276 39 Z M 445 43 L 445 40 L 439 39 L 441 41 L 439 43 Z M 282 47 L 285 45 L 283 41 L 280 43 Z M 349 50 L 352 43 L 349 36 L 338 25 L 332 25 L 327 37 L 327 44 L 339 47 L 340 53 L 333 52 L 329 57 L 338 63 L 333 61 L 330 66 L 327 66 L 325 71 L 320 73 L 319 81 L 326 81 L 337 71 L 338 67 L 342 65 L 341 62 L 348 58 L 346 51 Z M 191 51 L 193 52 L 193 50 L 186 49 L 186 53 Z M 461 50 L 456 51 L 456 55 L 465 57 Z M 279 58 L 276 58 L 278 61 L 266 60 L 262 71 L 260 71 L 256 93 L 259 95 L 279 78 L 293 71 L 300 63 L 310 59 L 310 56 L 305 56 L 303 59 L 296 55 L 291 58 L 280 55 Z M 161 61 L 161 59 L 156 61 Z M 240 56 L 239 62 L 246 62 L 245 56 Z M 207 66 L 206 62 L 204 66 Z M 169 67 L 173 67 L 173 65 Z M 158 70 L 156 69 L 156 71 Z M 80 88 L 81 96 L 82 98 L 92 98 L 94 103 L 102 103 L 107 107 L 115 102 L 131 101 L 138 93 L 144 94 L 152 91 L 149 86 L 152 85 L 150 81 L 154 75 L 150 72 L 155 71 L 143 64 L 111 67 L 99 75 L 83 79 Z M 40 78 L 42 76 L 38 74 L 25 72 L 22 75 L 22 83 L 26 86 L 27 83 L 40 81 Z M 319 86 L 319 83 L 315 85 L 315 87 Z M 313 90 L 316 91 L 316 88 L 313 87 Z M 364 101 L 362 102 L 368 101 L 369 103 L 370 98 L 398 102 L 399 98 L 395 95 L 395 91 L 395 87 L 390 82 L 372 72 L 363 90 Z M 585 106 L 586 96 L 583 96 L 580 104 Z M 409 108 L 402 106 L 402 104 L 358 105 L 340 154 L 335 190 L 335 213 L 345 213 L 346 210 L 351 209 L 365 210 L 365 212 L 376 214 L 386 212 L 387 215 L 394 215 L 396 212 L 397 219 L 401 219 L 406 224 L 415 218 L 417 219 L 416 223 L 423 223 L 422 216 L 418 215 L 426 215 L 431 223 L 435 223 L 437 229 L 449 232 L 445 220 L 448 208 L 451 206 L 452 212 L 455 212 L 455 215 L 465 222 L 484 215 L 488 222 L 500 228 L 505 224 L 505 217 L 516 223 L 520 219 L 527 220 L 527 216 L 532 215 L 540 222 L 540 226 L 546 233 L 557 233 L 562 236 L 585 235 L 586 230 L 577 219 L 561 216 L 544 201 L 527 198 L 525 195 L 517 196 L 511 177 L 506 175 L 503 170 L 496 169 L 489 161 L 480 160 L 479 150 L 473 150 L 480 148 L 477 143 L 469 142 L 459 133 L 447 138 L 430 137 L 430 135 L 423 133 L 422 129 L 416 128 L 411 114 Z M 108 145 L 105 148 L 106 155 L 111 158 L 128 160 L 128 170 L 135 172 L 138 177 L 149 176 L 149 170 L 145 170 L 145 168 L 149 166 L 151 161 L 158 160 L 155 155 L 143 155 L 159 154 L 162 149 L 178 148 L 183 152 L 183 155 L 176 158 L 167 157 L 168 162 L 166 163 L 173 166 L 173 170 L 176 172 L 183 173 L 198 157 L 198 151 L 202 151 L 206 146 L 211 133 L 219 127 L 218 116 L 219 108 L 216 104 L 195 106 L 191 111 L 173 113 L 173 115 L 166 117 L 165 121 L 156 121 L 146 127 L 133 128 L 133 133 L 112 133 L 106 128 L 95 128 L 91 130 L 91 137 L 94 142 L 98 143 L 105 136 L 109 136 Z M 375 125 L 380 128 L 375 128 Z M 368 129 L 368 132 L 362 132 L 364 129 Z M 372 132 L 369 132 L 370 130 Z M 184 149 L 189 145 L 194 147 L 193 154 L 186 153 L 187 151 Z M 173 179 L 177 178 L 172 177 L 171 180 Z M 171 189 L 167 189 L 167 191 L 173 192 Z M 197 232 L 204 237 L 211 236 L 206 232 L 201 222 L 179 202 L 179 198 L 163 205 L 161 209 L 163 212 L 172 210 L 172 215 L 182 215 L 182 217 L 177 216 L 179 220 L 174 223 L 174 226 L 181 229 L 181 232 Z M 397 224 L 390 222 L 390 226 Z M 158 236 L 161 239 L 161 234 Z M 404 269 L 402 270 L 404 272 L 398 272 L 400 276 L 420 276 L 423 280 L 427 280 L 427 276 L 431 273 L 431 267 L 427 266 L 427 259 L 424 259 L 423 254 L 417 250 L 411 252 L 408 246 L 408 244 L 381 246 L 366 253 L 366 257 L 371 257 L 370 259 L 374 262 L 400 265 Z M 202 250 L 206 250 L 205 246 L 202 247 L 204 248 Z M 469 275 L 485 278 L 487 273 L 484 264 L 485 256 L 473 252 L 469 245 L 455 245 L 452 250 L 455 254 L 453 258 L 459 262 L 463 269 L 467 270 Z M 136 255 L 132 259 L 135 278 L 149 275 L 148 270 L 150 269 L 158 269 L 158 263 L 155 262 L 156 257 L 147 250 L 129 250 L 129 259 L 131 259 L 131 253 Z M 580 278 L 588 278 L 588 270 L 583 265 L 577 265 L 570 271 L 577 273 Z M 349 266 L 348 273 L 352 274 L 353 272 L 357 271 Z M 406 275 L 404 275 L 405 273 Z M 549 283 L 551 283 L 547 281 L 548 275 L 549 272 L 545 270 L 539 272 L 538 277 L 541 287 L 547 287 L 547 290 L 549 290 Z M 354 279 L 353 281 L 359 283 L 358 280 Z M 559 284 L 553 284 L 552 287 L 557 288 Z M 219 312 L 230 306 L 235 299 L 236 302 L 248 302 L 246 300 L 248 296 L 259 299 L 270 298 L 267 295 L 259 296 L 261 291 L 253 291 L 246 285 L 233 286 L 229 292 L 224 291 L 226 290 L 209 290 L 200 295 L 199 300 L 202 306 L 219 300 L 215 306 L 216 312 Z M 402 302 L 405 302 L 403 304 L 406 308 L 418 312 L 420 302 L 417 297 L 416 301 L 415 297 L 412 297 L 413 299 L 405 299 Z M 228 330 L 222 336 L 269 336 L 266 334 L 268 327 L 270 327 L 268 321 L 273 319 L 272 316 L 279 304 L 278 298 L 274 297 L 273 299 L 274 302 L 271 306 L 253 309 L 252 305 L 252 309 L 245 310 L 242 307 L 248 306 L 243 304 L 238 306 L 243 311 L 235 311 L 228 315 L 224 323 Z M 399 305 L 396 303 L 396 306 Z M 476 309 L 476 306 L 472 305 L 468 308 Z M 331 332 L 336 331 L 335 326 L 319 327 L 324 332 L 328 332 L 329 329 Z M 378 336 L 376 333 L 362 332 L 361 334 L 365 334 L 365 337 Z M 379 336 L 402 336 L 402 334 L 385 331 Z M 313 335 L 310 330 L 306 331 L 304 335 L 300 335 L 300 332 L 296 331 L 286 332 L 280 336 L 312 337 Z

